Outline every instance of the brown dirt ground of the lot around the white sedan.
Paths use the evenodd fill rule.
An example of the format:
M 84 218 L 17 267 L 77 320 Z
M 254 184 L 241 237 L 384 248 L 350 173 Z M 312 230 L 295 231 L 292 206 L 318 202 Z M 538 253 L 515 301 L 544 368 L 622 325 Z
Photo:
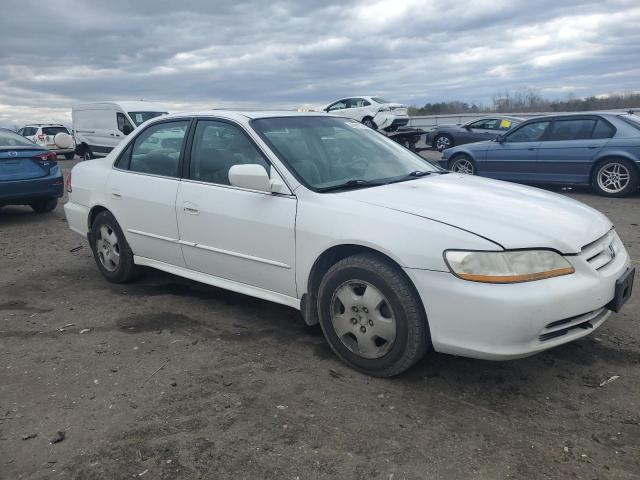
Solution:
M 640 196 L 567 194 L 638 265 Z M 107 283 L 62 206 L 0 210 L 2 479 L 639 478 L 638 367 L 640 288 L 573 344 L 380 380 L 289 308 L 161 272 Z

